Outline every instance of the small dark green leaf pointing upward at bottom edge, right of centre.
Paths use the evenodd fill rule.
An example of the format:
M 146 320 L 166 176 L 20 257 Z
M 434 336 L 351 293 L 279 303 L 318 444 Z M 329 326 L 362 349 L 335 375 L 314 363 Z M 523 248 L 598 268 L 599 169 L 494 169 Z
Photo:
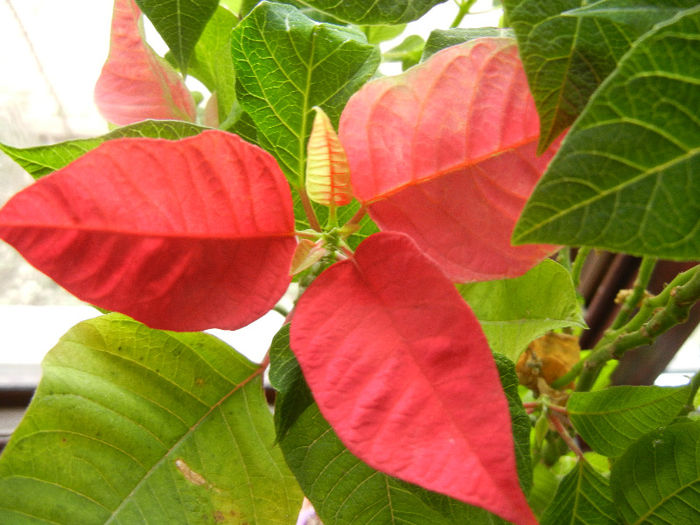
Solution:
M 587 461 L 580 460 L 559 483 L 554 500 L 545 510 L 540 523 L 620 523 L 610 495 L 608 480 L 596 472 Z

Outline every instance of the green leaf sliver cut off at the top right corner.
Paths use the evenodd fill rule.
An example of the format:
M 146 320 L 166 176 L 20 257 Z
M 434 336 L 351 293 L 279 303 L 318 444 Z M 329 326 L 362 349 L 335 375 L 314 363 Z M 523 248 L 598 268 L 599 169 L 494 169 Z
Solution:
M 649 31 L 655 24 L 668 20 L 683 9 L 696 4 L 697 0 L 599 0 L 563 14 L 607 19 L 629 26 L 630 38 L 634 39 Z

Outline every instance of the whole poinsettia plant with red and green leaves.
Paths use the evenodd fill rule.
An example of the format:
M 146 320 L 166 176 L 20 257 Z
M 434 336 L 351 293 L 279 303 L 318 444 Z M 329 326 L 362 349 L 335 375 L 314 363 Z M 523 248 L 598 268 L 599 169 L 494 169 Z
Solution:
M 700 298 L 645 295 L 700 258 L 700 8 L 506 0 L 381 53 L 439 3 L 115 1 L 120 127 L 0 145 L 36 179 L 0 236 L 109 311 L 46 356 L 0 522 L 697 523 L 700 376 L 600 372 Z M 642 263 L 582 354 L 591 248 Z M 261 363 L 202 332 L 289 293 Z

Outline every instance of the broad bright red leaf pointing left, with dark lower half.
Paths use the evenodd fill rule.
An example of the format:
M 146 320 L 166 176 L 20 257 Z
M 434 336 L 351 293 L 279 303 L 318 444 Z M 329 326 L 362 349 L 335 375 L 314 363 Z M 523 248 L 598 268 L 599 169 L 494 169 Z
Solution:
M 105 142 L 0 210 L 0 237 L 79 298 L 169 330 L 236 329 L 289 285 L 289 186 L 222 131 Z

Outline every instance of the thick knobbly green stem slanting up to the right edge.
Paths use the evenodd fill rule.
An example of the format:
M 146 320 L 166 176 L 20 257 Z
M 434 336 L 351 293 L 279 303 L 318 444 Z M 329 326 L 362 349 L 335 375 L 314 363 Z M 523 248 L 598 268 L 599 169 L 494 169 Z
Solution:
M 621 357 L 627 350 L 652 343 L 669 328 L 685 321 L 690 308 L 698 300 L 700 265 L 678 274 L 659 295 L 646 299 L 639 312 L 627 324 L 618 330 L 610 330 L 601 339 L 588 359 L 582 362 L 576 390 L 590 390 L 600 369 L 610 359 Z M 559 380 L 561 379 L 563 378 Z

